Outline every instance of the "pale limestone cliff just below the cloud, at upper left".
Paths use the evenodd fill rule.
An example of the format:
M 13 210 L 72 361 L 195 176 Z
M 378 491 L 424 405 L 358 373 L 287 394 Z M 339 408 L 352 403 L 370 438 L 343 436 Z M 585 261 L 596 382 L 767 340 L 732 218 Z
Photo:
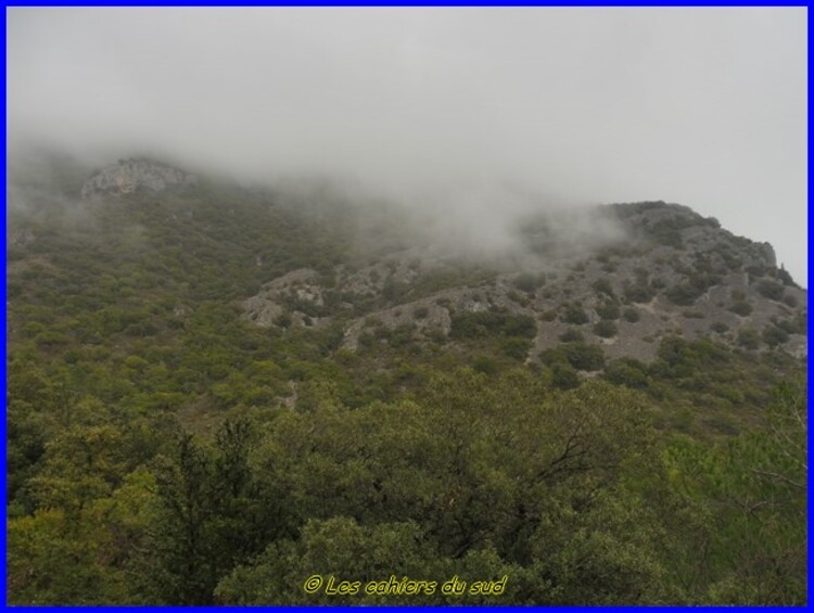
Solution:
M 124 195 L 139 189 L 161 192 L 170 187 L 196 182 L 198 178 L 194 175 L 166 164 L 147 158 L 120 159 L 85 181 L 81 196 L 91 199 L 100 195 Z

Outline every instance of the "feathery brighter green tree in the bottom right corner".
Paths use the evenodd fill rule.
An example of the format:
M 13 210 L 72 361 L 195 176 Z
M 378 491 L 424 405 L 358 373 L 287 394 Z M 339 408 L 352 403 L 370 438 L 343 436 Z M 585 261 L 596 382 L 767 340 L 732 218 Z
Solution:
M 806 573 L 800 547 L 806 540 L 804 386 L 781 386 L 767 412 L 768 427 L 759 432 L 715 447 L 679 438 L 667 449 L 666 487 L 690 502 L 685 529 L 696 540 L 674 564 L 690 577 L 690 590 L 711 602 L 806 598 L 799 580 Z M 700 560 L 704 572 L 696 573 Z

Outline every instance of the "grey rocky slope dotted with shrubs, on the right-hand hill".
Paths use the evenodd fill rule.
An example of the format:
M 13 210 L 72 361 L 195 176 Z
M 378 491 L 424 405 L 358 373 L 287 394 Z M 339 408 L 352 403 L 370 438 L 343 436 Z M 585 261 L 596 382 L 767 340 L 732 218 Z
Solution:
M 771 245 L 736 237 L 685 206 L 636 203 L 601 214 L 609 212 L 623 240 L 547 250 L 532 269 L 484 273 L 403 252 L 358 270 L 290 272 L 246 299 L 245 317 L 279 327 L 336 319 L 348 349 L 371 335 L 386 337 L 383 331 L 456 342 L 456 317 L 493 311 L 533 318 L 529 360 L 568 336 L 600 346 L 609 358 L 645 361 L 673 335 L 806 355 L 807 293 L 776 267 Z M 534 231 L 538 243 L 545 240 L 538 238 L 545 229 Z

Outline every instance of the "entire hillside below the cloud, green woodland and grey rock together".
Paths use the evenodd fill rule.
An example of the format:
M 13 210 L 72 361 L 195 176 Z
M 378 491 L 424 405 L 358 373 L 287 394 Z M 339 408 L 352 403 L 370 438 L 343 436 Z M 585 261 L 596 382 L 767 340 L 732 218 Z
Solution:
M 805 600 L 807 293 L 770 245 L 652 202 L 539 209 L 473 251 L 327 183 L 27 170 L 10 602 L 462 602 L 314 573 Z

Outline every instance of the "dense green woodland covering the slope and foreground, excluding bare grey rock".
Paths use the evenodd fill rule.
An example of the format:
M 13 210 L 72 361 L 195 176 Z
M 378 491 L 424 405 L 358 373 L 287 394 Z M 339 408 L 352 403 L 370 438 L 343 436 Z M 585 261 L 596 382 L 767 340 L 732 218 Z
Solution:
M 525 363 L 529 321 L 460 312 L 448 339 L 373 327 L 349 350 L 341 318 L 259 328 L 240 303 L 404 246 L 405 224 L 51 180 L 67 195 L 24 186 L 9 212 L 9 602 L 806 601 L 805 363 L 771 339 L 664 337 L 646 363 L 574 333 Z M 315 574 L 508 579 L 343 596 Z

